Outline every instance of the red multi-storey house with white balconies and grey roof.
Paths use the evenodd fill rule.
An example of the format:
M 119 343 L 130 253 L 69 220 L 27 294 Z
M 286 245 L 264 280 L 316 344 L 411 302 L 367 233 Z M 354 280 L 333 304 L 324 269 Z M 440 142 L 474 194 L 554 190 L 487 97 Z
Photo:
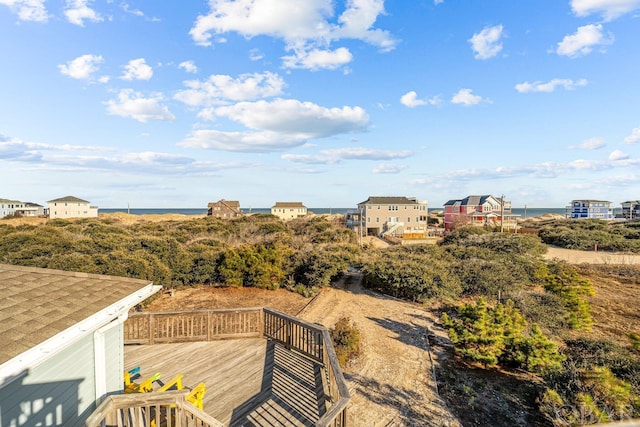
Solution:
M 492 195 L 467 196 L 444 204 L 444 229 L 464 225 L 515 228 L 517 217 L 511 214 L 511 202 Z

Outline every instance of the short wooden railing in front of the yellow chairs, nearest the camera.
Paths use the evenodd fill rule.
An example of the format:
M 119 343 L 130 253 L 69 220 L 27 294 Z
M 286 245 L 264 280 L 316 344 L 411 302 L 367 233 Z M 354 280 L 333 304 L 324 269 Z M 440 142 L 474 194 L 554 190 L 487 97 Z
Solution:
M 86 427 L 223 427 L 220 421 L 187 402 L 188 390 L 107 396 L 87 418 Z M 170 418 L 170 423 L 167 423 Z

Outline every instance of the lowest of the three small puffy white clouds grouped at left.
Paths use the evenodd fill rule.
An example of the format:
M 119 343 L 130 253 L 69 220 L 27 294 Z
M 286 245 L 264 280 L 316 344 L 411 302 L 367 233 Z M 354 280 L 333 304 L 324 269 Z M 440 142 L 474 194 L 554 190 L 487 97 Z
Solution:
M 141 93 L 131 89 L 123 89 L 118 94 L 117 100 L 109 100 L 107 111 L 109 114 L 128 117 L 142 123 L 150 120 L 173 121 L 175 116 L 169 108 L 162 105 L 162 95 L 152 94 L 145 98 Z

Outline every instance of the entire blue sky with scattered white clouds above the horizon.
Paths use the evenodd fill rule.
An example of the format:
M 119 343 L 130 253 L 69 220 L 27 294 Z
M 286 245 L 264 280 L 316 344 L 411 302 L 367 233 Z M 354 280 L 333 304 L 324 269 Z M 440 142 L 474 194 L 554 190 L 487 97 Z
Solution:
M 640 198 L 640 0 L 0 0 L 0 198 Z

